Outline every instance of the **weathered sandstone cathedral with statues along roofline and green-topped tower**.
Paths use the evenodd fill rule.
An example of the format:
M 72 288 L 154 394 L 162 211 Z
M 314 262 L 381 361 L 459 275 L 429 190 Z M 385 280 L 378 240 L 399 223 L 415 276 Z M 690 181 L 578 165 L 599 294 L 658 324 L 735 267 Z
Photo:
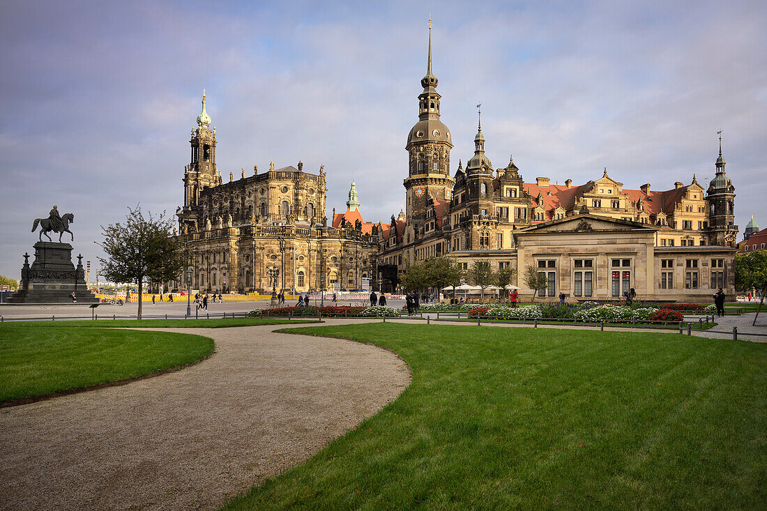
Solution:
M 359 213 L 352 183 L 347 212 L 328 225 L 324 166 L 318 173 L 285 166 L 223 183 L 216 166 L 216 128 L 210 127 L 206 97 L 192 132 L 185 167 L 184 204 L 176 209 L 176 239 L 188 252 L 190 287 L 203 292 L 343 290 L 375 285 L 378 226 Z M 334 209 L 335 213 L 335 209 Z M 186 288 L 184 275 L 166 282 Z

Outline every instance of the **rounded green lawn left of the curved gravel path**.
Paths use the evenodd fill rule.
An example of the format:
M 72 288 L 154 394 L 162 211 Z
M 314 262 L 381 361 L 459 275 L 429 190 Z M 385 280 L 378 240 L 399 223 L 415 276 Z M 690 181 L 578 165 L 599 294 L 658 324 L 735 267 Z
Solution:
M 95 322 L 95 321 L 94 321 Z M 0 326 L 0 402 L 104 384 L 199 360 L 200 335 L 106 328 Z

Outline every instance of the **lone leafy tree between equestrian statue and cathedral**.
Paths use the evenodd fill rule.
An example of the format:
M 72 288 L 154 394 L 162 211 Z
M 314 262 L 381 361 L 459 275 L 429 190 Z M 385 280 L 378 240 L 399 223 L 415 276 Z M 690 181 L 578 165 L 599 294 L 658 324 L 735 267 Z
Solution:
M 104 242 L 100 246 L 107 259 L 99 257 L 101 275 L 118 283 L 135 282 L 139 288 L 138 318 L 144 281 L 166 282 L 175 279 L 184 267 L 181 247 L 173 238 L 173 220 L 165 212 L 155 218 L 141 207 L 128 208 L 124 224 L 101 226 Z

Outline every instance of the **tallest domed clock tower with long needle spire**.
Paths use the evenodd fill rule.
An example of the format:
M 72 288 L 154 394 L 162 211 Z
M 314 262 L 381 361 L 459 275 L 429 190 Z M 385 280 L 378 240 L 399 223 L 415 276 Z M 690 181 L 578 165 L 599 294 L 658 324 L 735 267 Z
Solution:
M 405 211 L 410 222 L 420 223 L 430 198 L 449 200 L 453 192 L 450 176 L 450 130 L 439 120 L 439 81 L 431 67 L 431 20 L 429 20 L 429 63 L 421 79 L 423 92 L 418 96 L 418 122 L 407 135 L 409 171 L 404 180 Z

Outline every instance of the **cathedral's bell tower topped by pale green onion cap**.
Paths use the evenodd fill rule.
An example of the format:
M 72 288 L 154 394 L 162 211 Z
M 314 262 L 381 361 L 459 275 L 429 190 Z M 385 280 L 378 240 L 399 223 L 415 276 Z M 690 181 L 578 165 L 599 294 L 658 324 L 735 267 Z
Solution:
M 202 91 L 202 112 L 197 116 L 197 129 L 192 131 L 189 140 L 192 157 L 184 172 L 184 206 L 196 206 L 202 190 L 221 184 L 221 175 L 216 169 L 216 128 L 210 130 L 210 116 L 205 107 L 205 91 Z

